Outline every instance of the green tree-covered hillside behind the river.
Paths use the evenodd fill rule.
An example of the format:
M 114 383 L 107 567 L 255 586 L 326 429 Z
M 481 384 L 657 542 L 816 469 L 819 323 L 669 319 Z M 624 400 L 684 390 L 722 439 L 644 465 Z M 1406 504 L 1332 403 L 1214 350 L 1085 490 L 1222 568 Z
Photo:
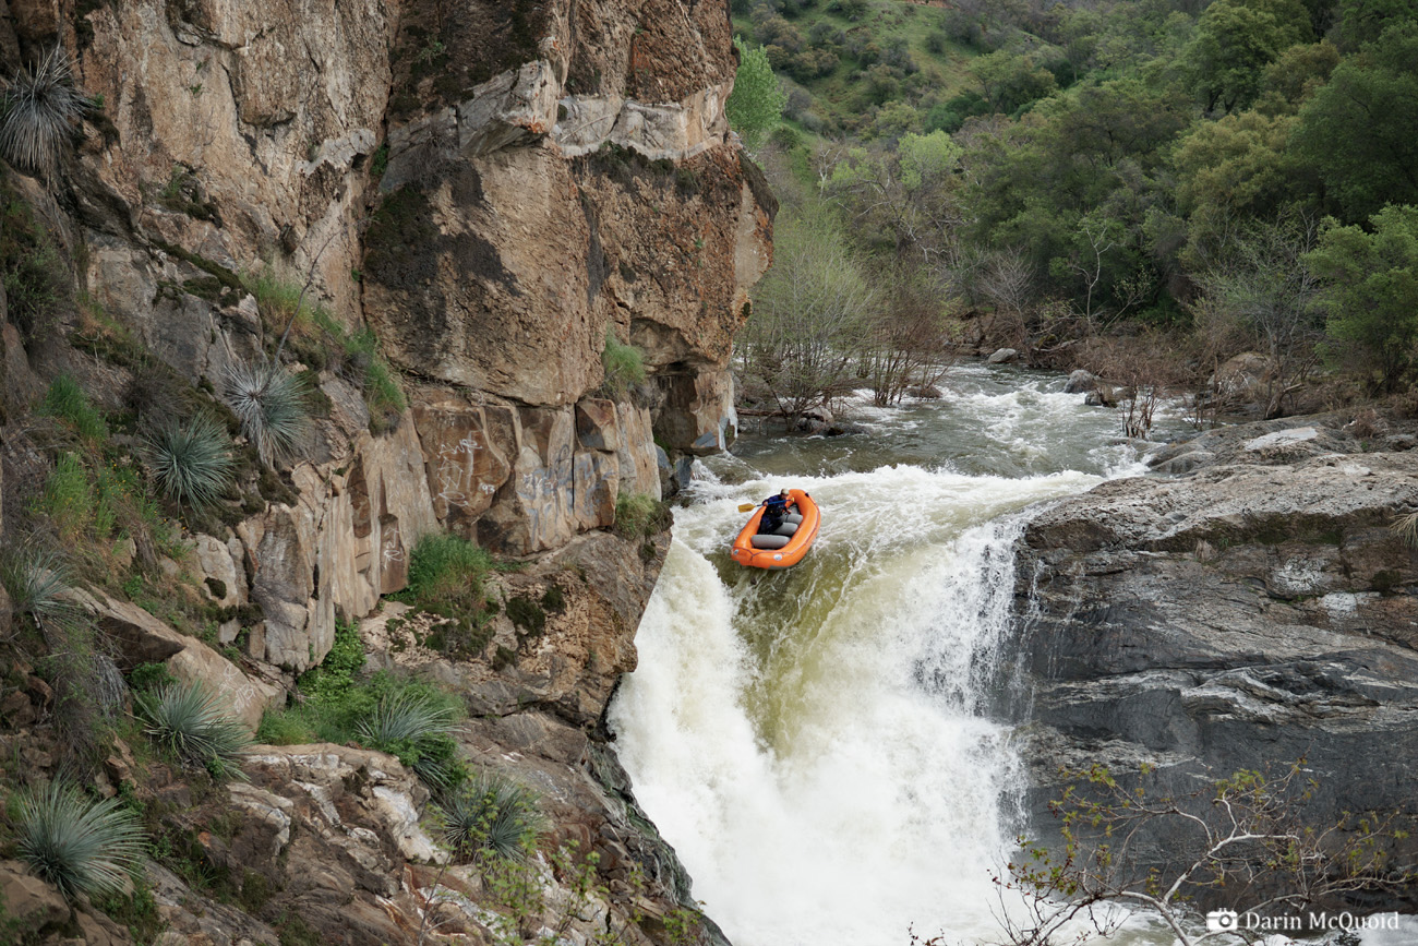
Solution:
M 735 16 L 788 94 L 759 149 L 783 233 L 891 286 L 881 325 L 824 345 L 888 357 L 905 321 L 903 345 L 944 349 L 964 319 L 976 345 L 1212 404 L 1217 369 L 1255 352 L 1266 416 L 1418 407 L 1418 0 Z

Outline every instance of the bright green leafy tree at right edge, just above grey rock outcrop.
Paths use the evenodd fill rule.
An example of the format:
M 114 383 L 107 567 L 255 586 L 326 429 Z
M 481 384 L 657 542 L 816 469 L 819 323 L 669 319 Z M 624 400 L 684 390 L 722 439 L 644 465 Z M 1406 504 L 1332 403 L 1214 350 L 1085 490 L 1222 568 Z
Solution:
M 1392 390 L 1418 357 L 1418 207 L 1384 207 L 1370 224 L 1326 221 L 1305 261 L 1323 281 L 1329 333 Z

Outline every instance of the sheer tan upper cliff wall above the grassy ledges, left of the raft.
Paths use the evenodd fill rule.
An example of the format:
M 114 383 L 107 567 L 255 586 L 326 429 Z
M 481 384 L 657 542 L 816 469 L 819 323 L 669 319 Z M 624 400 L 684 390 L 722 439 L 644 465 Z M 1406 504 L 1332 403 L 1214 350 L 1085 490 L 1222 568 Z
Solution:
M 14 4 L 104 101 L 65 220 L 88 292 L 221 390 L 282 328 L 227 277 L 311 274 L 404 373 L 411 410 L 376 438 L 323 372 L 301 502 L 237 529 L 255 657 L 318 661 L 430 529 L 554 549 L 732 440 L 729 345 L 774 204 L 727 142 L 722 4 L 89 6 Z M 608 332 L 644 353 L 637 399 L 596 399 Z

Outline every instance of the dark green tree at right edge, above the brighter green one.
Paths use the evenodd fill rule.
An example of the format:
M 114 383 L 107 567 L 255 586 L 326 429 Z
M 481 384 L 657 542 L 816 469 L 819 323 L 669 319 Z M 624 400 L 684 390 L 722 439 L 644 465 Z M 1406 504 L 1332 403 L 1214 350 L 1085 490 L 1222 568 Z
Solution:
M 1418 203 L 1418 23 L 1390 27 L 1340 62 L 1300 109 L 1292 146 L 1346 223 Z

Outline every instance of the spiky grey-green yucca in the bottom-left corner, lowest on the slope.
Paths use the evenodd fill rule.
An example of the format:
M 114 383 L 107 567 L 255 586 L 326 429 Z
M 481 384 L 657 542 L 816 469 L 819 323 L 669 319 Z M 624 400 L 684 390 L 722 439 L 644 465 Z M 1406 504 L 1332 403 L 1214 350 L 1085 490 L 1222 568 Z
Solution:
M 20 797 L 20 858 L 67 899 L 116 894 L 143 864 L 143 833 L 118 798 L 91 801 L 51 781 Z

